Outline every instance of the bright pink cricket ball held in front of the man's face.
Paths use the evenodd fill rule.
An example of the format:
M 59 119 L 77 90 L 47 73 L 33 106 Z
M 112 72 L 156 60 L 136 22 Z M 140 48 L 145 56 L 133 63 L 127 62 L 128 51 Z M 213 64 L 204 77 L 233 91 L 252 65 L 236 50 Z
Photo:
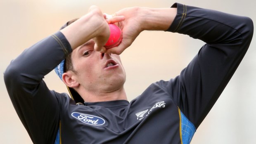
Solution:
M 122 31 L 118 26 L 114 24 L 109 24 L 109 29 L 110 29 L 109 40 L 107 41 L 106 45 L 104 45 L 106 49 L 116 47 L 122 41 Z

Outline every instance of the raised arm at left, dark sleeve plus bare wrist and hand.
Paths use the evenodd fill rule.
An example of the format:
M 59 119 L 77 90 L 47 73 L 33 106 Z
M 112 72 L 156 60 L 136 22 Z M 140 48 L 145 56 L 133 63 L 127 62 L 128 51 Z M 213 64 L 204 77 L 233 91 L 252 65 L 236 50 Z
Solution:
M 68 97 L 48 90 L 43 77 L 72 52 L 72 48 L 91 38 L 103 46 L 108 37 L 108 24 L 100 9 L 94 6 L 81 19 L 37 42 L 9 64 L 4 73 L 5 85 L 33 143 L 54 143 L 59 126 L 60 97 Z

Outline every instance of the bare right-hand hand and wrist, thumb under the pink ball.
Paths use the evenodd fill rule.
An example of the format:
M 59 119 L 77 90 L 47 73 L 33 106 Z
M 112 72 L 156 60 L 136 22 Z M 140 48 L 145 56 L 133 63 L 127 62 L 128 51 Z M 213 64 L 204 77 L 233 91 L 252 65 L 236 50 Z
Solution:
M 165 31 L 171 26 L 177 8 L 147 8 L 130 7 L 121 9 L 112 15 L 113 18 L 106 19 L 108 23 L 115 23 L 123 32 L 123 38 L 119 46 L 105 51 L 106 53 L 121 54 L 129 47 L 135 38 L 144 30 Z M 124 16 L 124 21 L 116 21 L 116 17 Z M 116 23 L 117 22 L 117 23 Z

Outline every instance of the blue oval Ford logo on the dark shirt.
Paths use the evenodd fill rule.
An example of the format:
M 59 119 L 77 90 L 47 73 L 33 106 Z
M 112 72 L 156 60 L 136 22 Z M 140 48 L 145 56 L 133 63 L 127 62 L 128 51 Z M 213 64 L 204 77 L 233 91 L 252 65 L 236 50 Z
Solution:
M 105 123 L 105 120 L 103 118 L 100 118 L 97 116 L 92 116 L 92 115 L 83 114 L 83 113 L 76 113 L 76 112 L 73 112 L 71 115 L 74 118 L 88 125 L 103 125 Z

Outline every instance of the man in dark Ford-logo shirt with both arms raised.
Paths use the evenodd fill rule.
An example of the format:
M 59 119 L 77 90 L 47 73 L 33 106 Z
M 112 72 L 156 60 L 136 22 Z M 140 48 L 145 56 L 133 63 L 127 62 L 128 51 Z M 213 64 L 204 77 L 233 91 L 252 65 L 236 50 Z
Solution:
M 178 3 L 164 9 L 126 8 L 105 18 L 90 7 L 85 16 L 25 50 L 5 71 L 9 96 L 32 141 L 190 143 L 249 47 L 251 19 Z M 123 40 L 106 50 L 108 23 L 117 23 Z M 178 32 L 206 44 L 180 76 L 153 83 L 128 102 L 126 75 L 116 54 L 145 30 Z M 61 78 L 84 105 L 48 90 L 42 80 L 65 58 Z

